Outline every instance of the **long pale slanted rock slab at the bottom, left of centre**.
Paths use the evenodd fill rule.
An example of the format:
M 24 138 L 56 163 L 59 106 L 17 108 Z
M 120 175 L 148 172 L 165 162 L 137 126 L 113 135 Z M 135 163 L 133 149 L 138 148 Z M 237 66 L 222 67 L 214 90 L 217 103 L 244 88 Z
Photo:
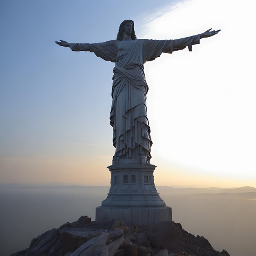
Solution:
M 100 249 L 100 252 L 103 249 L 103 245 L 106 245 L 106 241 L 108 239 L 108 233 L 105 232 L 99 236 L 96 236 L 92 239 L 90 239 L 89 241 L 87 241 L 86 243 L 84 243 L 83 245 L 81 245 L 79 248 L 77 248 L 74 252 L 72 252 L 72 254 L 70 254 L 70 256 L 79 256 L 79 255 L 90 255 L 92 256 L 90 253 L 92 253 L 92 250 L 88 250 L 89 248 L 94 248 L 94 250 L 96 250 L 98 252 L 98 248 Z M 88 253 L 88 254 L 84 254 L 84 253 Z M 97 256 L 100 254 L 100 252 L 98 252 Z

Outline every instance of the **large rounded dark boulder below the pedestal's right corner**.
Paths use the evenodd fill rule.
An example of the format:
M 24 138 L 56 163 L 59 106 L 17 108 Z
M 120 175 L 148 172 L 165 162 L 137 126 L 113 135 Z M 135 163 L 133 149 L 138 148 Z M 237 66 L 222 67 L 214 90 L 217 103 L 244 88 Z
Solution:
M 158 220 L 148 232 L 151 245 L 170 252 L 183 251 L 182 234 L 179 225 L 171 221 Z

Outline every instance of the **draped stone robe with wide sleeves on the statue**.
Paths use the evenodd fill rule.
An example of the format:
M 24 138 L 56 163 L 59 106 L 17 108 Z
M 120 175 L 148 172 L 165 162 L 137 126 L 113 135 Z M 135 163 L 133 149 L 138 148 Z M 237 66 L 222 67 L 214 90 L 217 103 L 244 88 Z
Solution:
M 110 40 L 104 43 L 71 43 L 72 51 L 89 51 L 105 61 L 116 63 L 112 85 L 110 125 L 113 127 L 113 159 L 151 159 L 150 126 L 147 118 L 148 85 L 144 63 L 153 61 L 162 52 L 172 53 L 198 44 L 200 35 L 177 40 L 135 39 Z M 120 47 L 126 44 L 126 47 Z

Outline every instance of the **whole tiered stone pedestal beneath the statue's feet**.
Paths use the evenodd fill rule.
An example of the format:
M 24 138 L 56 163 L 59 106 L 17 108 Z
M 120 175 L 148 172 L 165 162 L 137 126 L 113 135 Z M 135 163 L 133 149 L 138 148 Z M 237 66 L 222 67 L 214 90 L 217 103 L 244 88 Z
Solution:
M 130 163 L 128 159 L 108 166 L 111 172 L 110 191 L 96 208 L 96 222 L 124 220 L 128 226 L 150 225 L 157 220 L 172 220 L 155 188 L 153 164 Z

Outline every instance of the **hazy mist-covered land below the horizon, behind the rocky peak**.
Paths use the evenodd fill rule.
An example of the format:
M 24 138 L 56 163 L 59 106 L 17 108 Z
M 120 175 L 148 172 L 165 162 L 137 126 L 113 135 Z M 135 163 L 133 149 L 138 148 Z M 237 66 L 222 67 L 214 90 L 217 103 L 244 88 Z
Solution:
M 0 255 L 25 249 L 34 237 L 82 215 L 95 220 L 108 191 L 109 186 L 0 184 Z M 186 231 L 231 256 L 255 255 L 256 188 L 158 186 L 157 191 Z

